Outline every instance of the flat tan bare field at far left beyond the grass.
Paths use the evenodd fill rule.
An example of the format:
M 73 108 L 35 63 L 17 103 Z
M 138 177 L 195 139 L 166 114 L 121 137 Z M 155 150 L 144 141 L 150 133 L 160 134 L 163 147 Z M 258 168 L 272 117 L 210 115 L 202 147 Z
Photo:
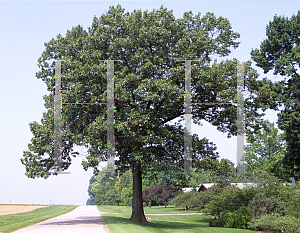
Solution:
M 24 213 L 47 206 L 49 205 L 0 204 L 0 215 Z

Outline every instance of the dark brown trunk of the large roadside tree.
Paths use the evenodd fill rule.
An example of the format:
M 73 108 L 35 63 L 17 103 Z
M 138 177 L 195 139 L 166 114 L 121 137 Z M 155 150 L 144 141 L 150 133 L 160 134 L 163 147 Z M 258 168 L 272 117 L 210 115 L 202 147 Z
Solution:
M 144 214 L 144 207 L 143 207 L 141 171 L 132 173 L 132 177 L 133 177 L 133 199 L 132 199 L 132 213 L 131 213 L 130 220 L 139 223 L 148 223 Z

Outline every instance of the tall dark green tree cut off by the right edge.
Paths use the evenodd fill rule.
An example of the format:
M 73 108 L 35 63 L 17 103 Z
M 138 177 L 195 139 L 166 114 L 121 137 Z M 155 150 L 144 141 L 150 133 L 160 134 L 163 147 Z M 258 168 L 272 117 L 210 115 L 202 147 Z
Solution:
M 285 132 L 287 151 L 283 160 L 291 176 L 300 180 L 300 11 L 290 19 L 275 15 L 266 28 L 267 39 L 251 57 L 265 73 L 284 76 L 273 85 L 273 97 L 283 109 L 278 114 L 279 128 Z M 271 92 L 271 93 L 272 93 Z

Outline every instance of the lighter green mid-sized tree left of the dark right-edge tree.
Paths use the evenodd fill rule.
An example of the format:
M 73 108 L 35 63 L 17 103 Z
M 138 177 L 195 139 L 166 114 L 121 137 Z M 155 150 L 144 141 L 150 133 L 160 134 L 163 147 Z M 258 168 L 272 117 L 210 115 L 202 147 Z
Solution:
M 268 122 L 266 128 L 255 134 L 254 141 L 245 146 L 246 174 L 251 177 L 254 173 L 266 171 L 281 181 L 290 181 L 289 170 L 282 164 L 285 149 L 284 134 L 279 133 L 274 123 Z

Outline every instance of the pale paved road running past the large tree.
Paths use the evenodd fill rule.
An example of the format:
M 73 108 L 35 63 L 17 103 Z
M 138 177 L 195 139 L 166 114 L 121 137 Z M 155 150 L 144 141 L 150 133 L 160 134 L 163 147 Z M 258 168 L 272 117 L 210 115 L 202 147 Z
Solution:
M 79 206 L 73 211 L 14 233 L 108 233 L 96 206 Z

